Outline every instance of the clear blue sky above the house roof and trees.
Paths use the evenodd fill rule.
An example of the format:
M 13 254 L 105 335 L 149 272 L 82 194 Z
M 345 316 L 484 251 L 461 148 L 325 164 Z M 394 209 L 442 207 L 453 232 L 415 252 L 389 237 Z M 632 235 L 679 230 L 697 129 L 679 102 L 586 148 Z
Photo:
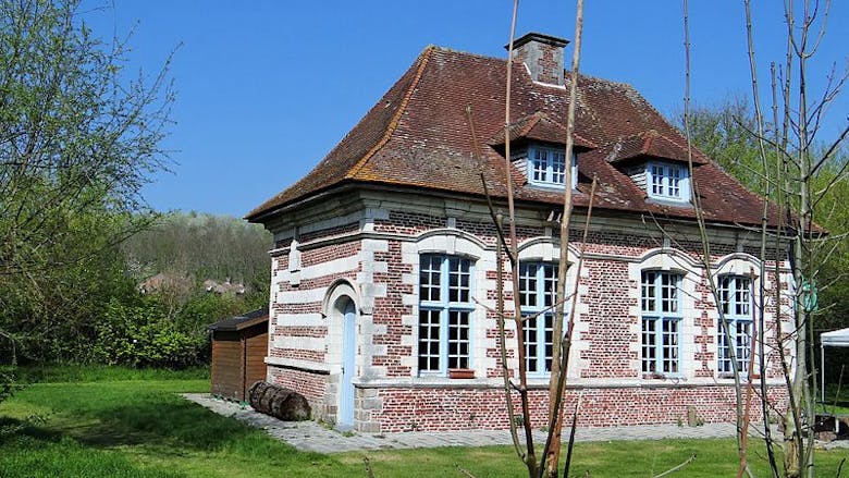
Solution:
M 755 3 L 755 51 L 766 74 L 768 61 L 782 61 L 786 27 L 782 2 Z M 318 163 L 428 45 L 505 58 L 512 4 L 86 0 L 83 10 L 101 37 L 135 30 L 134 72 L 152 75 L 181 45 L 171 68 L 175 124 L 164 144 L 174 163 L 146 186 L 148 203 L 242 217 Z M 517 36 L 573 38 L 574 9 L 574 1 L 526 0 Z M 588 1 L 581 72 L 633 85 L 664 114 L 680 110 L 681 13 L 680 1 Z M 693 101 L 749 94 L 742 1 L 690 1 L 690 35 Z M 833 63 L 846 68 L 847 45 L 849 2 L 835 1 L 810 68 L 814 91 Z M 768 77 L 762 82 L 768 86 Z M 834 137 L 847 113 L 849 91 L 829 110 L 821 137 Z

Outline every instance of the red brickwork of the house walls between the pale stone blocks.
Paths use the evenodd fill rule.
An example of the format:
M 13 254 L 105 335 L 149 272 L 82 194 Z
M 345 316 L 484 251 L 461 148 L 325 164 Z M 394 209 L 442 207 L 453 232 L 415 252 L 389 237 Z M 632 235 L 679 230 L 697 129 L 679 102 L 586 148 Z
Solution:
M 390 211 L 387 217 L 389 219 L 374 221 L 376 233 L 415 237 L 432 229 L 444 229 L 447 225 L 446 218 L 424 213 Z M 473 235 L 490 247 L 487 254 L 492 254 L 491 248 L 495 244 L 495 234 L 494 228 L 489 221 L 457 220 L 454 225 L 456 230 Z M 353 226 L 353 224 L 346 224 L 311 233 L 302 238 L 318 241 L 322 237 L 337 237 L 339 234 L 352 232 Z M 543 234 L 543 228 L 519 228 L 520 241 L 541 237 Z M 578 232 L 573 232 L 574 241 L 579 240 L 578 234 Z M 306 241 L 302 241 L 300 260 L 304 269 L 321 266 L 333 259 L 366 254 L 362 253 L 364 245 L 358 238 L 320 247 L 312 247 L 305 243 Z M 288 244 L 288 241 L 281 241 L 279 245 L 286 247 Z M 381 293 L 373 297 L 369 318 L 373 328 L 381 332 L 371 338 L 360 338 L 359 343 L 370 350 L 385 351 L 385 353 L 374 352 L 370 355 L 370 364 L 366 364 L 366 366 L 385 370 L 384 377 L 376 377 L 379 379 L 409 380 L 413 378 L 416 380 L 415 370 L 409 367 L 409 361 L 406 361 L 407 365 L 405 365 L 402 360 L 402 357 L 410 357 L 415 350 L 410 343 L 415 344 L 416 328 L 409 322 L 405 324 L 403 321 L 404 317 L 414 316 L 416 309 L 415 306 L 409 305 L 411 303 L 410 295 L 416 293 L 416 287 L 413 284 L 404 283 L 403 280 L 405 274 L 408 275 L 415 270 L 415 266 L 403 262 L 402 250 L 405 244 L 403 241 L 387 236 L 385 244 L 385 250 L 377 250 L 373 252 L 373 256 L 369 256 L 372 257 L 369 260 L 373 260 L 374 263 L 368 265 L 368 268 L 360 262 L 354 269 L 329 271 L 319 277 L 302 278 L 297 286 L 284 281 L 279 284 L 278 291 L 273 292 L 324 291 L 340 278 L 348 278 L 356 282 L 358 273 L 364 270 L 372 270 L 371 282 L 385 286 L 385 294 Z M 639 316 L 635 315 L 635 310 L 639 310 L 639 283 L 630 277 L 629 271 L 632 272 L 633 259 L 659 246 L 661 244 L 656 238 L 624 234 L 617 231 L 595 231 L 589 236 L 588 253 L 622 256 L 623 260 L 589 258 L 585 260 L 582 266 L 585 272 L 581 274 L 581 287 L 586 292 L 579 298 L 579 309 L 582 309 L 583 314 L 577 318 L 581 327 L 576 339 L 581 346 L 576 346 L 580 360 L 575 364 L 580 363 L 583 367 L 575 376 L 589 381 L 590 384 L 580 384 L 582 390 L 570 390 L 568 394 L 569 404 L 574 404 L 579 394 L 582 396 L 579 426 L 676 422 L 679 419 L 686 421 L 689 406 L 696 407 L 698 417 L 707 422 L 734 419 L 735 395 L 733 388 L 727 381 L 716 384 L 713 379 L 716 369 L 716 357 L 713 353 L 716 342 L 716 320 L 709 314 L 709 310 L 713 309 L 713 298 L 703 275 L 696 277 L 698 282 L 694 284 L 696 295 L 686 298 L 694 304 L 696 316 L 685 317 L 685 321 L 693 326 L 692 330 L 696 333 L 682 338 L 684 341 L 691 342 L 693 348 L 692 352 L 686 352 L 687 356 L 681 357 L 682 364 L 689 369 L 688 372 L 692 372 L 697 379 L 702 379 L 703 382 L 698 384 L 686 381 L 643 380 L 640 375 Z M 714 246 L 712 250 L 715 255 L 714 258 L 718 259 L 737 249 L 736 246 L 726 244 Z M 682 253 L 696 258 L 701 253 L 701 245 L 686 243 Z M 278 269 L 285 270 L 287 252 L 284 249 L 282 256 L 276 260 L 279 261 Z M 371 267 L 378 263 L 385 263 L 385 271 L 382 267 Z M 485 278 L 494 281 L 496 279 L 495 272 L 485 271 Z M 772 283 L 773 279 L 772 274 L 767 274 L 767 282 Z M 478 292 L 483 294 L 484 299 L 494 302 L 494 287 Z M 512 293 L 509 287 L 505 287 L 504 292 L 505 299 L 508 301 L 506 308 L 509 310 L 513 307 Z M 313 294 L 313 296 L 318 295 L 320 294 Z M 405 296 L 407 305 L 405 305 Z M 786 298 L 783 302 L 784 306 L 787 306 Z M 274 304 L 272 309 L 275 314 L 286 316 L 286 320 L 280 324 L 276 324 L 276 321 L 272 319 L 272 324 L 276 324 L 273 328 L 274 336 L 327 338 L 329 334 L 325 326 L 297 323 L 297 315 L 299 314 L 325 312 L 322 310 L 322 302 L 320 301 Z M 774 304 L 767 307 L 767 312 L 775 314 L 777 308 Z M 483 355 L 494 359 L 485 366 L 485 369 L 477 370 L 477 378 L 490 378 L 492 382 L 497 382 L 502 368 L 495 315 L 492 311 L 487 311 L 477 317 L 485 317 L 487 323 L 482 328 L 483 336 L 476 336 L 475 340 L 484 341 Z M 383 330 L 385 332 L 382 332 Z M 506 335 L 510 345 L 507 356 L 510 361 L 515 361 L 516 354 L 513 347 L 515 332 L 508 329 Z M 771 323 L 767 329 L 767 346 L 774 345 L 774 335 L 775 327 Z M 359 360 L 362 357 L 362 350 L 358 354 Z M 327 354 L 322 352 L 293 348 L 272 347 L 270 355 L 322 364 L 327 359 Z M 776 358 L 776 355 L 773 353 L 771 358 Z M 304 393 L 311 404 L 315 403 L 313 408 L 319 406 L 320 409 L 329 412 L 331 415 L 334 413 L 333 387 L 328 387 L 328 380 L 336 380 L 335 376 L 274 366 L 270 366 L 269 370 L 272 381 Z M 777 361 L 774 361 L 768 376 L 771 378 L 778 377 L 779 370 Z M 629 387 L 618 387 L 611 379 L 620 380 L 618 383 L 622 383 L 623 379 L 631 380 L 638 382 L 639 385 L 630 387 L 629 383 Z M 451 383 L 451 387 L 434 384 L 432 387 L 406 388 L 399 387 L 398 383 L 378 389 L 377 396 L 382 406 L 379 409 L 368 412 L 371 414 L 371 419 L 368 422 L 379 424 L 382 432 L 413 429 L 502 429 L 507 427 L 504 396 L 501 389 L 481 387 L 480 383 L 469 388 L 458 387 L 459 383 Z M 372 389 L 359 391 L 362 390 Z M 780 392 L 782 389 L 773 389 L 771 395 L 778 400 Z M 324 403 L 324 401 L 333 403 Z M 546 391 L 531 391 L 531 402 L 533 404 L 533 427 L 545 426 Z M 515 403 L 518 404 L 517 396 Z M 783 403 L 779 401 L 776 406 L 780 409 Z M 567 405 L 568 407 L 569 405 Z M 753 410 L 759 413 L 760 407 L 754 406 Z M 365 410 L 357 412 L 362 415 Z M 362 420 L 359 421 L 362 422 Z

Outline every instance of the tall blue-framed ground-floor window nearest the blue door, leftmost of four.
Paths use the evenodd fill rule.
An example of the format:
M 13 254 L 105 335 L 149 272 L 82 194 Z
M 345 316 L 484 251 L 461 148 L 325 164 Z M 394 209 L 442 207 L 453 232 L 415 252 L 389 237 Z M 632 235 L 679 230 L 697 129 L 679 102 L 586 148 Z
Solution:
M 470 368 L 472 263 L 424 254 L 419 262 L 419 373 Z

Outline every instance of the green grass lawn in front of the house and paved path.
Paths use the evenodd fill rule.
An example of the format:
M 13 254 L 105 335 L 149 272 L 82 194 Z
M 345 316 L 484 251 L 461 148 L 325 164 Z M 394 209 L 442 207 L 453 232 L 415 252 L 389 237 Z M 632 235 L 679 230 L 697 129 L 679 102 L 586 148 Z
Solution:
M 506 446 L 302 453 L 177 396 L 208 390 L 198 371 L 71 367 L 24 377 L 41 381 L 0 404 L 0 426 L 23 427 L 0 437 L 2 477 L 366 477 L 364 456 L 378 478 L 462 477 L 456 465 L 479 478 L 526 476 Z M 648 477 L 696 454 L 674 476 L 733 476 L 734 450 L 733 440 L 578 443 L 573 475 Z M 751 454 L 764 476 L 762 446 Z M 817 453 L 817 476 L 835 477 L 847 455 Z

